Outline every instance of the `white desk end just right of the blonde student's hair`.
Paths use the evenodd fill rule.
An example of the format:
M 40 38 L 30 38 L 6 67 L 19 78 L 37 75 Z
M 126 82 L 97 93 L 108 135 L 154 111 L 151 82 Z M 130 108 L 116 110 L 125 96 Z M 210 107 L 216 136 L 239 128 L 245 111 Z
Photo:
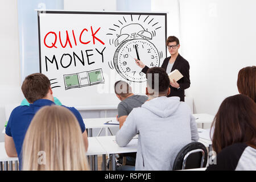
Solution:
M 96 139 L 96 137 L 88 137 L 88 150 L 86 155 L 102 155 L 106 154 L 106 150 L 102 147 L 100 142 Z

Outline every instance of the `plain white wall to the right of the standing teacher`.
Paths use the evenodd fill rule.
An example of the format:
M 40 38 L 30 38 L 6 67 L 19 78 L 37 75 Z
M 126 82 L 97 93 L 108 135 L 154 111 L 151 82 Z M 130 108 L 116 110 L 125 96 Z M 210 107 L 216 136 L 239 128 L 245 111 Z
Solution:
M 181 46 L 191 66 L 196 113 L 216 114 L 238 94 L 238 71 L 255 65 L 256 1 L 180 0 Z

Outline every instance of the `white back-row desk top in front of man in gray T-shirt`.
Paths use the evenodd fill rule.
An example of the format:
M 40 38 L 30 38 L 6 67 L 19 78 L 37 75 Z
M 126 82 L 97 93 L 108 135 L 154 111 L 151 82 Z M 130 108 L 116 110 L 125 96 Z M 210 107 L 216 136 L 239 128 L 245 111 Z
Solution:
M 102 127 L 119 127 L 119 125 L 104 125 L 107 121 L 115 121 L 116 118 L 88 118 L 83 119 L 86 129 L 96 129 Z

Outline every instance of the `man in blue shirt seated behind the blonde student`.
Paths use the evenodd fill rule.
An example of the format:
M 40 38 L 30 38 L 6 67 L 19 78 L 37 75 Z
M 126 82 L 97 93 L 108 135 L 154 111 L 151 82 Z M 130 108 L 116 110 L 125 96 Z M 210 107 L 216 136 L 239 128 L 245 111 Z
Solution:
M 20 152 L 23 140 L 32 118 L 41 107 L 55 105 L 50 81 L 47 76 L 42 73 L 28 75 L 23 81 L 22 92 L 30 105 L 16 107 L 11 112 L 9 122 L 7 123 L 5 130 L 6 153 L 10 157 L 18 156 L 19 162 L 21 162 L 22 158 L 22 156 L 20 156 Z M 84 138 L 85 149 L 87 151 L 88 138 L 84 121 L 75 107 L 67 107 L 67 109 L 75 115 L 79 122 L 82 138 Z

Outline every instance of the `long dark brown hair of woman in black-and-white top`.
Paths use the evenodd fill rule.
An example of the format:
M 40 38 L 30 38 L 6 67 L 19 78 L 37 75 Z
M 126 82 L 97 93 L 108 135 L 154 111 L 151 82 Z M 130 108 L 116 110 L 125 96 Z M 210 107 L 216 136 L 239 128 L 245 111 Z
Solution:
M 226 98 L 218 109 L 213 127 L 212 143 L 216 153 L 234 143 L 256 146 L 255 102 L 243 94 Z

